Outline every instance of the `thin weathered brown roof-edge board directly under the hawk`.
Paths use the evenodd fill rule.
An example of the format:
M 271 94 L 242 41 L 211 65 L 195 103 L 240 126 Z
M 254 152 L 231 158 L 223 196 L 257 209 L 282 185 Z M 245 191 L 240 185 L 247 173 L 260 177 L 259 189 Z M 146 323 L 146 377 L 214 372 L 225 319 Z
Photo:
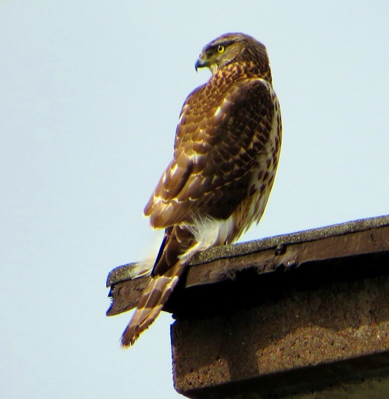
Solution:
M 247 269 L 265 274 L 277 269 L 297 268 L 309 262 L 380 254 L 389 251 L 388 237 L 389 215 L 216 247 L 197 254 L 191 260 L 181 288 L 232 281 L 236 273 Z M 125 312 L 137 305 L 150 277 L 145 275 L 132 279 L 131 271 L 136 265 L 118 266 L 109 272 L 106 284 L 110 287 L 112 303 L 107 316 Z M 176 289 L 176 292 L 180 291 L 180 287 Z M 182 302 L 181 299 L 179 302 Z M 179 310 L 177 305 L 179 303 L 169 301 L 165 310 L 176 313 Z

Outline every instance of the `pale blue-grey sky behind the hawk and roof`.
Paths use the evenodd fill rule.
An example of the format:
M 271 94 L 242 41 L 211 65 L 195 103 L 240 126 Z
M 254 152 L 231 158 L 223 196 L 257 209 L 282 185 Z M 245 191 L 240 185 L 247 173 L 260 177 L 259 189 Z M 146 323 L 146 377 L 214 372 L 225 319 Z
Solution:
M 388 214 L 388 15 L 387 0 L 0 1 L 0 397 L 181 397 L 171 316 L 123 352 L 131 314 L 105 316 L 105 279 L 156 240 L 143 207 L 222 33 L 267 46 L 284 127 L 242 241 Z

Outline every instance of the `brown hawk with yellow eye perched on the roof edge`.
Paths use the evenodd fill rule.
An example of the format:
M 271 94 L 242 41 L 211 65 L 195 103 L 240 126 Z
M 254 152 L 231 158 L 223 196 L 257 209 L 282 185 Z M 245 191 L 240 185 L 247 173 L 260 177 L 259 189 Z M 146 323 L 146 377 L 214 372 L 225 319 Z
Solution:
M 202 49 L 195 69 L 203 67 L 212 75 L 185 100 L 173 159 L 144 209 L 165 235 L 123 347 L 156 319 L 196 252 L 259 222 L 273 185 L 282 129 L 265 46 L 223 34 Z

